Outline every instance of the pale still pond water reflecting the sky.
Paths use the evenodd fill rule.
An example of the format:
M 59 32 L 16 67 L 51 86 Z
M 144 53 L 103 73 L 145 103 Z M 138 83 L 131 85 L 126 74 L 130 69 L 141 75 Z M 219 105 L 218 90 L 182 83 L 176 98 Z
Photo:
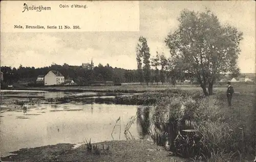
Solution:
M 90 94 L 90 93 L 87 93 Z M 124 127 L 130 118 L 136 115 L 136 105 L 115 104 L 39 104 L 30 106 L 27 113 L 14 107 L 12 100 L 20 96 L 65 96 L 81 95 L 79 93 L 60 92 L 10 92 L 1 90 L 1 156 L 21 148 L 39 147 L 58 143 L 83 143 L 84 138 L 92 142 L 126 140 Z M 82 94 L 84 95 L 84 94 Z M 26 98 L 22 98 L 23 100 Z M 119 125 L 112 130 L 120 117 Z M 137 124 L 129 129 L 135 139 L 140 138 Z M 112 138 L 113 136 L 113 138 Z

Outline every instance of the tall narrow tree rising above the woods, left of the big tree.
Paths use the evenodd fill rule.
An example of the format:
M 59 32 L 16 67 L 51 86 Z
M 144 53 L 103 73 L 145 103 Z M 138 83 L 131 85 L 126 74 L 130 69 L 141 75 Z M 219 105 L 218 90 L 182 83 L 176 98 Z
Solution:
M 151 71 L 150 71 L 150 48 L 147 46 L 146 38 L 140 36 L 139 43 L 136 47 L 137 51 L 137 63 L 138 63 L 138 69 L 141 68 L 141 57 L 143 58 L 143 76 L 144 80 L 146 82 L 146 85 L 148 86 L 148 83 L 151 79 Z

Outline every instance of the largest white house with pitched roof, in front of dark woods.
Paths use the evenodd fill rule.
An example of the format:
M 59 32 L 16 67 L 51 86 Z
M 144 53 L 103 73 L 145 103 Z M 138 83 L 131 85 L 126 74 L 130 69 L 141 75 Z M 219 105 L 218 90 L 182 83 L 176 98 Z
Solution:
M 65 78 L 58 71 L 51 70 L 45 75 L 45 86 L 60 85 L 64 83 L 65 83 Z

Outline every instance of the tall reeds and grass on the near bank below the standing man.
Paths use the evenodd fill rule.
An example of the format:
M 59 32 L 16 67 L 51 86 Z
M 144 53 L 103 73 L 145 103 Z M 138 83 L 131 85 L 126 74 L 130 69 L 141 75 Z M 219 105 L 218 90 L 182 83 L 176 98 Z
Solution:
M 183 157 L 201 156 L 207 161 L 228 161 L 254 153 L 254 110 L 250 106 L 254 96 L 234 96 L 232 110 L 221 92 L 199 99 L 191 96 L 184 92 L 157 100 L 148 131 L 157 144 L 168 145 Z

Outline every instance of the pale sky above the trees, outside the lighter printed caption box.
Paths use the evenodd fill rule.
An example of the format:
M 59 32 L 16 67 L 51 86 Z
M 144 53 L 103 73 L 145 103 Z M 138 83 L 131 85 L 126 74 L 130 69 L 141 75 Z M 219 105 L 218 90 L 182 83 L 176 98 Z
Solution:
M 141 1 L 139 32 L 1 33 L 1 66 L 79 66 L 93 59 L 96 66 L 101 63 L 136 69 L 139 36 L 147 39 L 152 56 L 158 51 L 168 57 L 164 39 L 178 28 L 180 12 L 203 12 L 205 8 L 214 12 L 222 24 L 243 32 L 238 65 L 243 73 L 255 72 L 254 1 Z

